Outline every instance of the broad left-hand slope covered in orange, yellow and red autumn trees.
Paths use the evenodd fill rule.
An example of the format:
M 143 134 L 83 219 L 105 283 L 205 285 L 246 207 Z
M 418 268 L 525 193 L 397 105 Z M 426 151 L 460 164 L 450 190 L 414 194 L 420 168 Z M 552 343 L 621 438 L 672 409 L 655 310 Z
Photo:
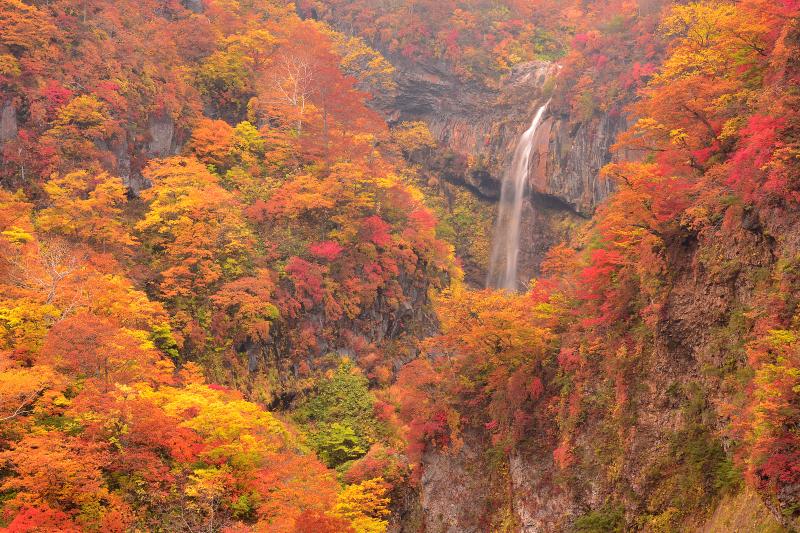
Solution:
M 278 1 L 0 2 L 3 530 L 386 529 L 377 394 L 461 273 L 358 44 Z

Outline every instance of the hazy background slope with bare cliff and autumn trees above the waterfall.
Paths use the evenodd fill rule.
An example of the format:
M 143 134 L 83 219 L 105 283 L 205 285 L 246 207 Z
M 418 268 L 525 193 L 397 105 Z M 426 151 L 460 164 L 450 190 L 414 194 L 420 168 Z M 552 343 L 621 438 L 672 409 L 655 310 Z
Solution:
M 554 100 L 537 136 L 524 207 L 520 277 L 528 280 L 545 252 L 613 190 L 599 171 L 628 127 L 625 106 L 657 61 L 657 40 L 649 37 L 665 3 L 506 2 L 495 9 L 479 0 L 421 2 L 411 10 L 418 19 L 409 19 L 402 3 L 307 0 L 299 8 L 384 52 L 396 69 L 396 90 L 375 94 L 371 105 L 393 125 L 426 123 L 439 149 L 415 160 L 482 198 L 499 198 L 520 135 L 542 101 Z M 462 27 L 464 13 L 473 18 Z M 486 56 L 507 48 L 525 53 L 487 66 Z M 528 60 L 537 57 L 546 59 Z M 472 63 L 476 58 L 481 67 Z

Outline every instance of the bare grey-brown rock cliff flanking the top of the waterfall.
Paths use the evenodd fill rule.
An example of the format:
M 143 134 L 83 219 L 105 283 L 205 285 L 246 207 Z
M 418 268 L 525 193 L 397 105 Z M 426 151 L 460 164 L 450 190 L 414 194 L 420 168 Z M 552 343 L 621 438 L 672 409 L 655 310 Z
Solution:
M 431 173 L 497 200 L 504 173 L 531 117 L 554 92 L 557 65 L 517 66 L 496 87 L 464 81 L 446 65 L 392 58 L 398 91 L 376 105 L 392 123 L 424 121 L 442 149 L 425 161 Z M 520 272 L 538 272 L 546 251 L 563 241 L 612 191 L 599 178 L 622 117 L 577 120 L 551 106 L 536 136 L 529 197 L 523 210 Z

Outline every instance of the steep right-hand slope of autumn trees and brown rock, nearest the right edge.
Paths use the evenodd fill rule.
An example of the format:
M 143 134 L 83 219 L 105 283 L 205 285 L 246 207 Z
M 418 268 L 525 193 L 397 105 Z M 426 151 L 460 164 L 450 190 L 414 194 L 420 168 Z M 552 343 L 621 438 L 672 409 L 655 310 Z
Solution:
M 397 385 L 427 528 L 797 528 L 797 9 L 665 11 L 616 192 L 527 294 L 439 302 Z

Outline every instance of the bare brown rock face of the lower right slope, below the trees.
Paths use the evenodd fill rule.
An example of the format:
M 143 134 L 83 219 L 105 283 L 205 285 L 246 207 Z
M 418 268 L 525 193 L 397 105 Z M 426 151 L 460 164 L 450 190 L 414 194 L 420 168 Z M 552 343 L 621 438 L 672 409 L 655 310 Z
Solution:
M 650 347 L 630 355 L 623 377 L 606 375 L 598 362 L 584 391 L 591 405 L 575 429 L 574 464 L 556 467 L 555 443 L 540 435 L 502 449 L 489 431 L 468 429 L 463 445 L 424 456 L 425 531 L 616 531 L 577 529 L 575 521 L 667 523 L 664 502 L 676 501 L 699 506 L 684 531 L 792 531 L 797 524 L 776 502 L 794 501 L 796 487 L 765 504 L 726 477 L 731 450 L 721 430 L 729 415 L 721 406 L 747 372 L 742 339 L 754 322 L 748 310 L 759 308 L 759 287 L 783 268 L 780 258 L 798 256 L 798 235 L 796 217 L 744 211 L 728 228 L 670 236 L 669 297 Z M 620 387 L 628 394 L 625 413 L 609 408 Z M 622 503 L 610 508 L 609 501 Z M 704 514 L 703 506 L 713 512 Z

